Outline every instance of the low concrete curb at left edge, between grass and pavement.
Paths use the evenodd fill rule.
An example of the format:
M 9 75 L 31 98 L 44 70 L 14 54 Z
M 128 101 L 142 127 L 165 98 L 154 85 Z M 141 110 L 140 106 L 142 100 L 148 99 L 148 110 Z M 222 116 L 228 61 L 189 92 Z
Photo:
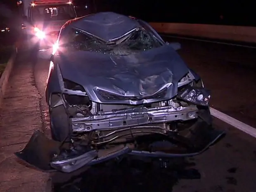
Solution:
M 7 62 L 7 65 L 5 67 L 5 71 L 2 73 L 2 76 L 0 78 L 0 105 L 2 104 L 2 100 L 3 100 L 3 97 L 5 95 L 5 90 L 7 88 L 9 76 L 11 74 L 12 67 L 13 67 L 14 61 L 16 59 L 17 52 L 18 52 L 18 49 L 16 47 L 14 49 L 14 52 L 12 53 L 9 61 Z

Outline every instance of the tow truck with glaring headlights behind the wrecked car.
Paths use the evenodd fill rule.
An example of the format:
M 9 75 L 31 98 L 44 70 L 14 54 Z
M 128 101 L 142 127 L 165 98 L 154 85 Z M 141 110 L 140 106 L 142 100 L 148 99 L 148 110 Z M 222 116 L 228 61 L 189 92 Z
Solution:
M 48 49 L 57 40 L 62 25 L 77 17 L 71 0 L 22 0 L 23 39 L 29 50 Z

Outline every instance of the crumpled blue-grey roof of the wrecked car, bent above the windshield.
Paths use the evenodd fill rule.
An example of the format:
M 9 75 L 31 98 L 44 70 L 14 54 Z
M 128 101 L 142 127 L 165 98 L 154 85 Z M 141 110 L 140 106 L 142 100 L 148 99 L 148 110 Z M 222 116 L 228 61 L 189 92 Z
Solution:
M 71 27 L 86 31 L 105 41 L 119 38 L 141 25 L 128 16 L 114 12 L 99 12 L 74 19 Z

